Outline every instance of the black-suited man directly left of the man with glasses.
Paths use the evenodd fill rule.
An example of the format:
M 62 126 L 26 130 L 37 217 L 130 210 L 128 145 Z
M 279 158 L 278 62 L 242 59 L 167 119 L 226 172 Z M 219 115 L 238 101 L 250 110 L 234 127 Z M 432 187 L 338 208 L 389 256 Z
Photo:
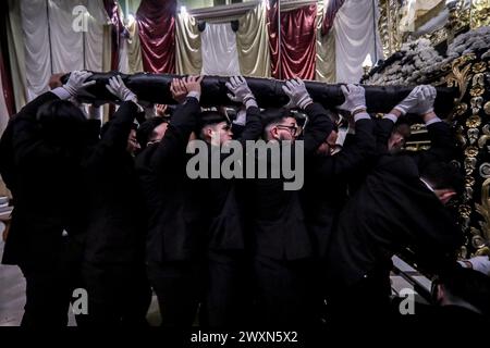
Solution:
M 231 153 L 221 153 L 232 139 L 235 130 L 243 127 L 240 137 L 240 147 L 245 150 L 247 140 L 256 140 L 262 132 L 260 110 L 255 97 L 242 76 L 233 76 L 226 83 L 229 97 L 241 102 L 246 109 L 245 124 L 230 124 L 219 112 L 203 112 L 199 116 L 197 135 L 207 144 L 208 163 L 213 160 L 212 152 L 220 152 L 216 159 L 219 165 L 231 157 Z M 236 121 L 235 121 L 236 122 Z M 237 120 L 237 122 L 243 122 Z M 234 151 L 234 150 L 233 150 Z M 242 162 L 234 163 L 233 167 L 245 173 Z M 248 259 L 246 254 L 246 237 L 243 227 L 243 210 L 241 208 L 240 178 L 211 177 L 199 179 L 203 194 L 203 210 L 209 224 L 207 232 L 208 245 L 208 273 L 203 307 L 200 309 L 200 324 L 215 327 L 236 327 L 247 320 L 250 307 Z M 243 192 L 242 192 L 243 194 Z

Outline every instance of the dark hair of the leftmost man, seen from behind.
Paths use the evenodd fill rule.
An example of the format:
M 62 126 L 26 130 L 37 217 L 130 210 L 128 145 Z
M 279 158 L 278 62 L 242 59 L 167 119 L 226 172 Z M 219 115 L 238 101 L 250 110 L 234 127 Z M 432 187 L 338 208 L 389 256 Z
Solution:
M 52 145 L 85 144 L 87 120 L 82 110 L 68 100 L 53 100 L 36 114 L 42 138 Z

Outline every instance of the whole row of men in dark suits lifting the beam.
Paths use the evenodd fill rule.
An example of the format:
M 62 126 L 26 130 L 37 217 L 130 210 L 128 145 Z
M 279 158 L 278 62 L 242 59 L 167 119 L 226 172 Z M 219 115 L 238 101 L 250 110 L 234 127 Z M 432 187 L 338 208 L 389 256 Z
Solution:
M 151 289 L 163 326 L 191 326 L 197 312 L 210 327 L 316 325 L 326 298 L 332 318 L 388 308 L 390 259 L 403 248 L 436 273 L 455 261 L 462 235 L 443 203 L 463 184 L 448 164 L 454 140 L 433 113 L 433 87 L 416 87 L 373 121 L 364 88 L 342 86 L 340 109 L 355 134 L 335 153 L 332 113 L 297 78 L 283 87 L 286 108 L 261 111 L 246 80 L 232 77 L 229 97 L 242 105 L 234 122 L 201 111 L 201 77 L 174 79 L 171 121 L 150 119 L 136 130 L 142 107 L 113 77 L 107 88 L 120 107 L 99 134 L 100 123 L 68 101 L 88 77 L 73 72 L 29 102 L 0 142 L 15 203 L 3 262 L 19 264 L 27 281 L 24 325 L 65 324 L 75 287 L 88 294 L 84 325 L 145 325 Z M 303 134 L 290 109 L 307 115 Z M 400 151 L 393 129 L 406 113 L 426 122 L 432 146 L 424 154 Z M 304 187 L 285 190 L 291 178 L 282 173 L 193 179 L 186 172 L 192 139 L 222 164 L 231 154 L 213 151 L 234 139 L 246 152 L 260 137 L 302 145 L 301 159 L 287 153 L 304 170 Z M 270 154 L 253 157 L 274 165 Z

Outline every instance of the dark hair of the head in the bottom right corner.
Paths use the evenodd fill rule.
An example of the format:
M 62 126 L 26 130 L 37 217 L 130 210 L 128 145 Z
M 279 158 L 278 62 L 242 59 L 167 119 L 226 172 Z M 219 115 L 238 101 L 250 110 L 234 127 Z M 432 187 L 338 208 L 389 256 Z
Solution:
M 483 314 L 490 314 L 490 277 L 460 265 L 450 268 L 436 279 L 450 296 L 458 297 L 479 309 Z

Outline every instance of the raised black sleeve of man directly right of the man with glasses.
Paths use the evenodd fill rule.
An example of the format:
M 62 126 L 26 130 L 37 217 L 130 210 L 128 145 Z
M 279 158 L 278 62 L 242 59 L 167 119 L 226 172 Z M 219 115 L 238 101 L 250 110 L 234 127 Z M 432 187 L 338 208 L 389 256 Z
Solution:
M 357 169 L 364 161 L 376 153 L 376 139 L 371 120 L 356 122 L 356 134 L 352 136 L 352 144 L 331 157 L 319 157 L 313 166 L 317 174 L 324 178 L 346 175 Z

